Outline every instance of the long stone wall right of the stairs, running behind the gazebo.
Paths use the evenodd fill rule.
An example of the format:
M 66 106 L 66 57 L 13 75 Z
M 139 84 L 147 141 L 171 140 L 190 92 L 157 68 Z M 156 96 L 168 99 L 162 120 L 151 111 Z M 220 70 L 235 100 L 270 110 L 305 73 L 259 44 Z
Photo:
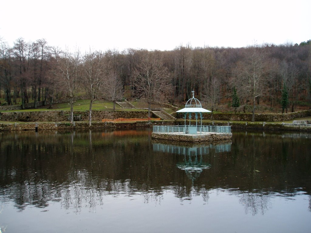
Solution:
M 183 114 L 172 114 L 176 118 L 183 118 Z M 290 113 L 257 113 L 255 114 L 255 121 L 289 121 L 299 117 L 309 117 L 311 116 L 311 110 L 304 110 L 299 112 Z M 203 113 L 203 119 L 211 119 L 211 113 Z M 188 116 L 187 116 L 188 118 Z M 194 118 L 194 113 L 192 114 L 192 119 Z M 214 120 L 222 121 L 252 121 L 252 113 L 214 113 Z

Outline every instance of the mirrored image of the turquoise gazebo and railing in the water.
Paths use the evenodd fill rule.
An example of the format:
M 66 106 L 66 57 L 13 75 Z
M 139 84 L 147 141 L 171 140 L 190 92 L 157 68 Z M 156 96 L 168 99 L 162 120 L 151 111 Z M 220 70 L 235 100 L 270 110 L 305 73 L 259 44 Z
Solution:
M 175 153 L 184 156 L 182 162 L 177 162 L 176 167 L 184 170 L 192 181 L 196 180 L 204 169 L 209 169 L 211 164 L 203 161 L 203 156 L 210 150 L 215 153 L 229 152 L 231 150 L 231 141 L 220 144 L 164 144 L 153 143 L 153 150 L 165 153 Z

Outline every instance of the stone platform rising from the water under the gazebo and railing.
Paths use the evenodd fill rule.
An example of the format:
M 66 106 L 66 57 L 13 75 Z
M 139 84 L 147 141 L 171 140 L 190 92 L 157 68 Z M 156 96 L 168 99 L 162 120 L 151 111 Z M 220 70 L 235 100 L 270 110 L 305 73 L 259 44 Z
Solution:
M 152 133 L 153 139 L 181 141 L 181 142 L 209 142 L 231 140 L 232 133 L 202 132 L 200 134 L 185 134 L 183 132 Z

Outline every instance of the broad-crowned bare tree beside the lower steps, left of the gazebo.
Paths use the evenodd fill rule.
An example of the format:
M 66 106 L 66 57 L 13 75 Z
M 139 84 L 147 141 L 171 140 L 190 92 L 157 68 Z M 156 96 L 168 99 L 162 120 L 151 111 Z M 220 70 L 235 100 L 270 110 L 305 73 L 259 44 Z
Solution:
M 148 52 L 142 58 L 134 71 L 135 93 L 148 103 L 148 118 L 150 119 L 151 103 L 165 98 L 171 89 L 169 73 L 163 66 L 162 57 L 154 52 Z

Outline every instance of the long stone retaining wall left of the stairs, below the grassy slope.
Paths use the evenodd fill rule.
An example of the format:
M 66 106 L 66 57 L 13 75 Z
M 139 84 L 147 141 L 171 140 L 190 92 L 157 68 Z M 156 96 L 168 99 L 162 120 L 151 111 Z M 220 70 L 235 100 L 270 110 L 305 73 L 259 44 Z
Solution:
M 82 121 L 88 121 L 88 112 L 75 111 L 74 114 L 82 115 Z M 0 121 L 68 121 L 70 111 L 38 111 L 38 112 L 0 112 Z M 148 118 L 146 111 L 92 111 L 92 122 L 102 119 L 118 118 Z

